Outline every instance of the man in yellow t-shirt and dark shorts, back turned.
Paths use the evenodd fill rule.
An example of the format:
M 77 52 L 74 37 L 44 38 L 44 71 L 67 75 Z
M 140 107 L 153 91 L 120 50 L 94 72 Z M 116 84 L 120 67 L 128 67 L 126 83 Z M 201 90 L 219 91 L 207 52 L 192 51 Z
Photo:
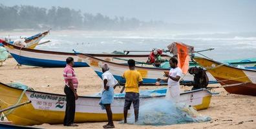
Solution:
M 142 75 L 135 70 L 135 61 L 128 60 L 129 70 L 123 73 L 125 78 L 125 104 L 123 107 L 124 123 L 127 123 L 127 113 L 133 103 L 135 122 L 138 121 L 138 112 L 140 106 L 139 86 L 142 84 Z

